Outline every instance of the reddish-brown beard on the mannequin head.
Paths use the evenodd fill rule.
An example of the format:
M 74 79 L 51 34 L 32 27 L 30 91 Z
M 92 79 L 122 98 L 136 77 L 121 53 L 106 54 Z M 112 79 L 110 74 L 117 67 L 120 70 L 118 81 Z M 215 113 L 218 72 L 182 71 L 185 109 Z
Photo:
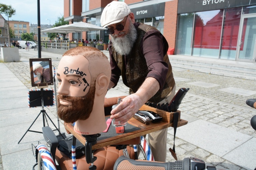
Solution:
M 84 97 L 72 97 L 57 95 L 58 111 L 57 114 L 61 120 L 66 123 L 74 123 L 77 120 L 86 120 L 93 111 L 95 98 L 95 83 L 90 87 L 88 93 Z M 72 105 L 61 105 L 59 100 L 64 99 L 72 103 Z

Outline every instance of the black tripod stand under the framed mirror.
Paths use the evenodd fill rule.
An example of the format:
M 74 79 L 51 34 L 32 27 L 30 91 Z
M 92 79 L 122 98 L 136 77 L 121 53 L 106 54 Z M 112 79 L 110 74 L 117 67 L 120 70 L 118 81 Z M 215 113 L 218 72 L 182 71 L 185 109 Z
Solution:
M 41 102 L 42 102 L 42 110 L 41 112 L 38 114 L 38 116 L 35 118 L 35 120 L 33 121 L 33 123 L 30 125 L 30 127 L 28 128 L 27 132 L 35 132 L 35 133 L 43 133 L 43 132 L 39 132 L 39 131 L 31 131 L 29 130 L 31 128 L 31 126 L 34 124 L 34 122 L 37 120 L 37 118 L 39 117 L 39 115 L 42 113 L 43 114 L 43 126 L 45 127 L 45 120 L 46 120 L 46 123 L 47 123 L 47 126 L 49 126 L 48 122 L 47 122 L 47 118 L 46 116 L 49 118 L 49 120 L 53 123 L 52 119 L 47 115 L 47 113 L 45 112 L 44 110 L 44 101 L 43 101 L 43 88 L 41 88 Z M 62 136 L 63 139 L 65 139 L 65 137 L 63 137 L 63 135 L 60 133 L 59 129 L 56 127 L 56 125 L 53 123 L 54 127 L 56 128 L 55 130 L 53 131 L 58 131 L 59 134 Z M 27 133 L 26 132 L 26 133 Z M 26 133 L 22 136 L 22 138 L 19 140 L 19 142 L 23 139 L 23 137 L 26 135 Z M 18 144 L 19 144 L 18 142 Z

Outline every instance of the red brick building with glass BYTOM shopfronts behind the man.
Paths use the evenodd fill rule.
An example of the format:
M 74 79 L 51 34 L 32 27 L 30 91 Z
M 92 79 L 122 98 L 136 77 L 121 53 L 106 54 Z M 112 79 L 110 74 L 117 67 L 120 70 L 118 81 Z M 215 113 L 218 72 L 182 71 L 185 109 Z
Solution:
M 101 13 L 111 1 L 64 0 L 64 19 L 101 26 Z M 256 0 L 123 1 L 136 21 L 156 27 L 165 36 L 176 55 L 256 61 Z M 108 43 L 110 36 L 106 31 L 90 31 L 83 32 L 83 38 Z

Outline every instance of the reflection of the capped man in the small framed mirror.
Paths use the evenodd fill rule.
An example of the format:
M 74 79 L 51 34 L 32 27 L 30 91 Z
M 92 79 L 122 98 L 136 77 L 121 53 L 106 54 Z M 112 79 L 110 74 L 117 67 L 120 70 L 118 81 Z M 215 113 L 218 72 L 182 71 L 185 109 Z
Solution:
M 38 81 L 40 83 L 51 82 L 51 74 L 49 68 L 43 68 L 40 63 L 35 63 L 33 65 L 33 72 L 37 75 Z

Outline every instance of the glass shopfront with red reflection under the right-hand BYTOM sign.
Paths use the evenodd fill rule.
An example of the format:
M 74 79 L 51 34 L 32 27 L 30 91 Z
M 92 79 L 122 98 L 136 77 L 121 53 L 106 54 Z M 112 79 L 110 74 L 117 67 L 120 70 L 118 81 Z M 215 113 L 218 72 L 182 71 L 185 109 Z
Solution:
M 175 53 L 256 61 L 256 0 L 179 0 Z

